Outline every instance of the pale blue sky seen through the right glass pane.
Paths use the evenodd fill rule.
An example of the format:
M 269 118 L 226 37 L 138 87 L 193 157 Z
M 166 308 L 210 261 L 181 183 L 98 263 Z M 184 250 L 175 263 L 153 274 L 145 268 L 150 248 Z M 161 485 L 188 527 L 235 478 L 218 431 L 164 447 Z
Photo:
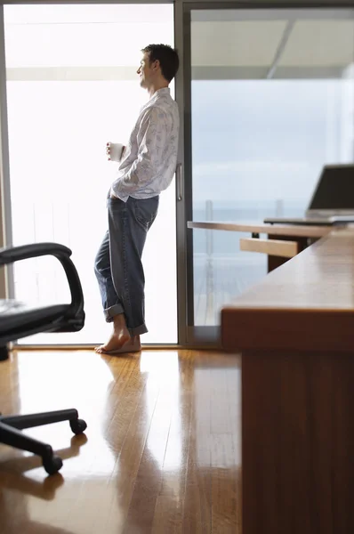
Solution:
M 194 201 L 306 204 L 323 165 L 353 160 L 353 93 L 342 80 L 194 81 Z

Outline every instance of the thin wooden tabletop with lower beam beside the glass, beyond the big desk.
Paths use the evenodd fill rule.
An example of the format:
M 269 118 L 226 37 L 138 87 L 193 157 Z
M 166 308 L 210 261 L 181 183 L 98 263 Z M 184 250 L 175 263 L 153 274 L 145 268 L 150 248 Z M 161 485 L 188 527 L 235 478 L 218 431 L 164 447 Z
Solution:
M 310 239 L 319 239 L 333 231 L 333 226 L 301 226 L 294 224 L 221 223 L 217 221 L 189 221 L 187 227 L 194 230 L 250 232 L 251 239 L 240 239 L 241 250 L 268 255 L 268 272 L 302 252 Z M 260 234 L 267 239 L 259 239 Z

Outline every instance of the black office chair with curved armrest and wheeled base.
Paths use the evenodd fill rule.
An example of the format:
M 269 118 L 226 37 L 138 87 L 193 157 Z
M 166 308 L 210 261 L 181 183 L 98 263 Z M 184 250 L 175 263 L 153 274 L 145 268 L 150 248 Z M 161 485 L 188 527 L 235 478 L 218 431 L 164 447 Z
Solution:
M 49 306 L 29 306 L 16 300 L 0 300 L 0 360 L 7 360 L 7 344 L 39 332 L 77 332 L 84 327 L 84 295 L 76 267 L 70 259 L 71 250 L 56 243 L 36 243 L 22 247 L 0 249 L 0 266 L 42 255 L 53 255 L 66 272 L 71 303 Z M 76 409 L 64 409 L 27 416 L 4 417 L 0 414 L 0 442 L 28 450 L 42 457 L 47 473 L 57 473 L 62 461 L 54 456 L 52 447 L 36 441 L 20 430 L 33 426 L 69 421 L 75 434 L 84 433 L 86 423 L 78 418 Z

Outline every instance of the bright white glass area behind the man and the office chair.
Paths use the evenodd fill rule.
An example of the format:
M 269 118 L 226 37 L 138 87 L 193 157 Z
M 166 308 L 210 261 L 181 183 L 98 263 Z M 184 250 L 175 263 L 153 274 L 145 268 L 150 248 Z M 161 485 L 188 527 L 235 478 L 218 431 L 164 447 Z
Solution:
M 79 333 L 21 343 L 101 343 L 110 327 L 93 261 L 107 230 L 113 180 L 106 142 L 125 142 L 149 98 L 136 75 L 141 48 L 173 44 L 173 5 L 6 5 L 4 14 L 13 242 L 70 247 L 86 312 Z M 175 248 L 171 186 L 161 195 L 143 256 L 147 344 L 177 342 Z M 52 258 L 18 263 L 14 275 L 21 300 L 58 303 L 69 297 Z

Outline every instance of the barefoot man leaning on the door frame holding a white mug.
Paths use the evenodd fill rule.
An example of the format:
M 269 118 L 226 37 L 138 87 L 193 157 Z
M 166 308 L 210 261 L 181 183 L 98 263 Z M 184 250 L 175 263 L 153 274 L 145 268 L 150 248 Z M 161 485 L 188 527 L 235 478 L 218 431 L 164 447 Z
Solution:
M 106 354 L 141 350 L 140 336 L 148 331 L 141 255 L 159 194 L 172 182 L 177 164 L 180 119 L 168 86 L 179 67 L 178 54 L 165 44 L 149 44 L 141 52 L 137 73 L 149 101 L 127 146 L 108 143 L 106 150 L 119 162 L 107 200 L 109 231 L 95 260 L 104 315 L 113 323 L 109 341 L 96 348 Z

